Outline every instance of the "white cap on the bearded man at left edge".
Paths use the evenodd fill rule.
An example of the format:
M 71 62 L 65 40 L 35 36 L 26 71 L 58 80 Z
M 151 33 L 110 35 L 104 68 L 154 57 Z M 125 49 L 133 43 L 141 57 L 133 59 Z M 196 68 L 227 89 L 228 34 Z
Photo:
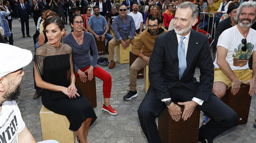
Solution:
M 27 66 L 32 57 L 29 50 L 0 43 L 0 77 Z

